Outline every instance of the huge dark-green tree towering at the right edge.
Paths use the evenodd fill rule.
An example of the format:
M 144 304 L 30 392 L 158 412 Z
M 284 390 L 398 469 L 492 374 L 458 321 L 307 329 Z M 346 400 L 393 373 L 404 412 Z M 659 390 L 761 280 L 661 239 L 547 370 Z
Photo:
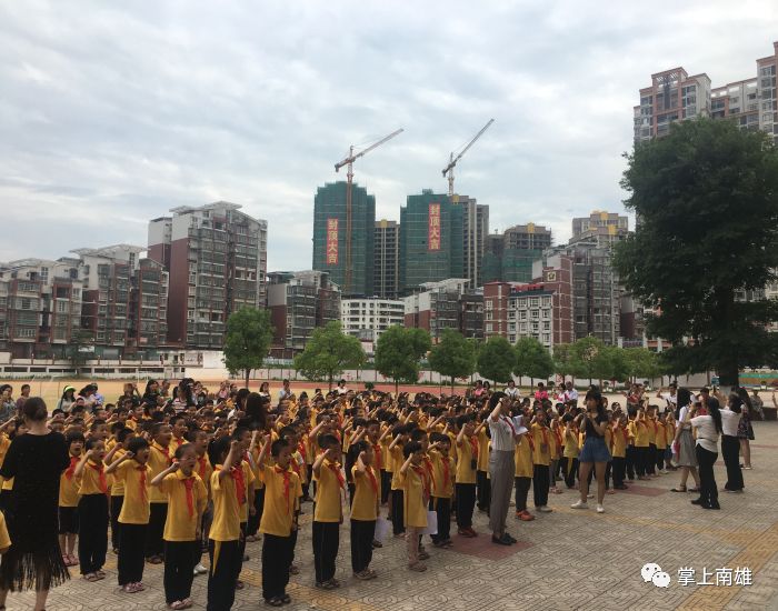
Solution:
M 775 302 L 761 291 L 778 268 L 778 149 L 732 121 L 674 123 L 669 136 L 627 156 L 625 204 L 640 219 L 616 249 L 627 289 L 652 308 L 648 332 L 674 349 L 682 373 L 715 368 L 722 385 L 739 367 L 764 364 Z M 685 338 L 694 341 L 686 342 Z

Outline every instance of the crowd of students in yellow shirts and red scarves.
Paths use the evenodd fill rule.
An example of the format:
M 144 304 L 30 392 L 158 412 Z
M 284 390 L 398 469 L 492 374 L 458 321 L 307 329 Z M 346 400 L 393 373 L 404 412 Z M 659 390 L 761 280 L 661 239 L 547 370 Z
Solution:
M 539 384 L 525 398 L 512 383 L 506 391 L 479 382 L 463 397 L 420 392 L 411 398 L 356 393 L 341 382 L 326 394 L 317 389 L 297 397 L 285 383 L 272 401 L 265 384 L 259 393 L 228 382 L 208 392 L 187 379 L 172 388 L 151 380 L 142 394 L 127 384 L 114 403 L 106 403 L 94 384 L 79 393 L 68 387 L 48 420 L 50 430 L 63 434 L 69 453 L 58 495 L 61 562 L 99 582 L 110 545 L 118 554 L 118 584 L 128 594 L 144 589 L 147 563 L 163 563 L 170 609 L 191 607 L 194 575 L 207 572 L 207 608 L 226 610 L 243 588 L 246 542 L 261 539 L 262 598 L 281 607 L 290 602 L 290 574 L 300 571 L 298 519 L 303 504 L 313 501 L 317 588 L 341 585 L 336 559 L 345 522 L 353 577 L 377 577 L 370 563 L 373 549 L 382 547 L 376 533 L 382 511 L 393 534 L 406 539 L 409 570 L 422 572 L 430 557 L 423 534 L 431 514 L 437 524 L 431 545 L 449 548 L 455 514 L 457 537 L 468 539 L 479 534 L 476 508 L 490 512 L 489 419 L 498 417 L 509 422 L 515 440 L 515 478 L 507 493 L 512 492 L 522 522 L 552 511 L 549 494 L 563 489 L 579 495 L 572 508 L 587 509 L 596 479 L 601 513 L 607 493 L 678 468 L 682 482 L 675 490 L 691 491 L 686 488 L 691 473 L 700 492 L 692 502 L 718 509 L 712 464 L 719 434 L 725 489 L 744 488 L 737 435 L 747 394 L 746 401 L 737 393 L 717 399 L 707 389 L 694 395 L 672 388 L 657 405 L 634 387 L 621 407 L 595 387 L 581 404 L 571 383 L 558 390 Z M 720 400 L 727 409 L 719 409 Z M 0 425 L 0 464 L 26 427 L 18 417 Z M 535 513 L 528 507 L 530 488 Z M 13 479 L 7 479 L 0 509 L 12 495 Z M 0 548 L 7 548 L 1 527 L 0 513 Z M 492 542 L 515 543 L 502 530 Z

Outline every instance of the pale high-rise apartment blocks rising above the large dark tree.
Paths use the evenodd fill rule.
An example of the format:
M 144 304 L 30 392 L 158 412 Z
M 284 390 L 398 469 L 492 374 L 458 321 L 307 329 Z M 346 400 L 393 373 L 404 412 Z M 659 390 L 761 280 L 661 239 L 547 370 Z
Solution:
M 729 119 L 778 140 L 778 42 L 771 56 L 756 61 L 755 76 L 714 89 L 707 74 L 689 77 L 680 67 L 651 74 L 651 86 L 640 90 L 640 104 L 634 108 L 635 141 L 665 136 L 671 123 L 696 117 Z

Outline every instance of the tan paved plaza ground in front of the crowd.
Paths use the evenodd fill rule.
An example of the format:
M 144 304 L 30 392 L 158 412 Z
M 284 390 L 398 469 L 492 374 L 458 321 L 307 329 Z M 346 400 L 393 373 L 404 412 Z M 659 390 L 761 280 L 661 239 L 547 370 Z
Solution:
M 463 609 L 778 609 L 778 425 L 754 425 L 752 471 L 744 471 L 746 492 L 720 494 L 721 511 L 705 511 L 689 503 L 692 494 L 670 492 L 678 474 L 632 485 L 606 497 L 605 514 L 570 509 L 572 491 L 552 494 L 552 513 L 533 522 L 509 518 L 518 545 L 493 545 L 487 519 L 476 515 L 477 539 L 456 535 L 450 550 L 430 549 L 426 573 L 406 568 L 405 543 L 391 537 L 376 550 L 373 581 L 351 577 L 348 527 L 341 528 L 335 591 L 313 588 L 311 505 L 305 504 L 297 545 L 301 572 L 292 577 L 288 609 L 439 610 Z M 726 481 L 724 464 L 716 467 L 719 488 Z M 530 499 L 531 504 L 531 499 Z M 511 510 L 512 511 L 512 510 Z M 261 603 L 261 542 L 249 543 L 245 563 L 246 589 L 233 609 Z M 116 584 L 116 555 L 109 553 L 104 581 L 89 583 L 73 574 L 49 599 L 49 610 L 164 609 L 162 568 L 147 564 L 147 590 L 124 594 Z M 668 588 L 645 582 L 641 568 L 656 563 L 670 575 Z M 694 569 L 691 583 L 679 583 L 679 569 Z M 750 584 L 748 582 L 750 571 Z M 689 573 L 687 573 L 689 574 Z M 718 575 L 718 578 L 717 578 Z M 716 584 L 717 579 L 719 584 Z M 724 585 L 731 579 L 731 585 Z M 699 584 L 708 581 L 710 585 Z M 739 584 L 736 582 L 739 581 Z M 205 609 L 206 577 L 194 579 L 194 609 Z M 8 609 L 31 609 L 29 593 L 11 595 Z M 262 605 L 265 607 L 265 605 Z

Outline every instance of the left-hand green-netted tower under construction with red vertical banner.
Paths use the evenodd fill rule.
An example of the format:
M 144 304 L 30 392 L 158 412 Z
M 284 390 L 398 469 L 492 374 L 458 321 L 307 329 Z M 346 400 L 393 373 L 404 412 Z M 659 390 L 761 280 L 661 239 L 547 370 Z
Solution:
M 373 296 L 376 198 L 352 184 L 351 219 L 343 181 L 319 187 L 313 198 L 313 269 L 329 273 L 347 297 Z M 348 224 L 351 223 L 349 228 Z M 350 266 L 347 264 L 350 259 Z

